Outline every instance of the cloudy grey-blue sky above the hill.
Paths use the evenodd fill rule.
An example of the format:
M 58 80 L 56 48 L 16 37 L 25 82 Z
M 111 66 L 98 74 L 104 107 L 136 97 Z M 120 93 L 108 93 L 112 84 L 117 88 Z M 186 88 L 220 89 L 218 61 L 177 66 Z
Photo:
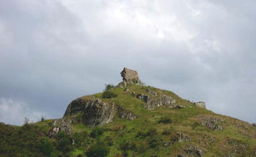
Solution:
M 80 96 L 146 83 L 256 123 L 255 0 L 1 0 L 0 121 L 61 118 Z

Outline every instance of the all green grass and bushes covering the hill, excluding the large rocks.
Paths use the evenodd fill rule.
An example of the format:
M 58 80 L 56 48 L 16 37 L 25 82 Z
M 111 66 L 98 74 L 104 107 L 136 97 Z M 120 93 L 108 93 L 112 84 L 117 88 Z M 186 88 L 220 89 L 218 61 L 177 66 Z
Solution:
M 148 94 L 149 88 L 173 97 L 177 105 L 186 107 L 169 109 L 162 106 L 147 110 L 143 107 L 144 101 L 129 95 L 123 88 L 107 88 L 105 91 L 116 95 L 112 99 L 101 99 L 103 93 L 82 99 L 117 103 L 138 118 L 133 121 L 115 118 L 112 123 L 94 128 L 79 122 L 71 125 L 71 135 L 59 131 L 53 138 L 47 137 L 53 128 L 51 119 L 37 123 L 27 121 L 23 126 L 0 123 L 0 157 L 76 157 L 79 154 L 82 157 L 176 157 L 192 146 L 200 148 L 204 157 L 255 156 L 256 128 L 249 123 L 197 108 L 170 91 L 139 85 L 127 88 L 136 94 Z M 203 126 L 201 116 L 224 119 L 221 122 L 223 130 Z M 191 140 L 182 141 L 178 132 Z

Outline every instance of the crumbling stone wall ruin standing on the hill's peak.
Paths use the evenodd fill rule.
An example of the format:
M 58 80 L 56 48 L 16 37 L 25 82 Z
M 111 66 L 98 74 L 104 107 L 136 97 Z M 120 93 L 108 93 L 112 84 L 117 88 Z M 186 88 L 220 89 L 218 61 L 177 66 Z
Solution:
M 121 76 L 123 77 L 123 84 L 125 87 L 126 85 L 135 84 L 135 85 L 142 85 L 141 81 L 139 80 L 138 72 L 135 70 L 130 70 L 127 67 L 123 68 L 121 72 Z

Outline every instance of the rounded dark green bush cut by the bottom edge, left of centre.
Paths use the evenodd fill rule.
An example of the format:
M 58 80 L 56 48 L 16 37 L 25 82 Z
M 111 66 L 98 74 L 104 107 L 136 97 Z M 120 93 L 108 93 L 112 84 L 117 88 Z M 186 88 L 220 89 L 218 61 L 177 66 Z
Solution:
M 105 157 L 107 156 L 109 149 L 103 143 L 94 144 L 86 153 L 87 157 Z

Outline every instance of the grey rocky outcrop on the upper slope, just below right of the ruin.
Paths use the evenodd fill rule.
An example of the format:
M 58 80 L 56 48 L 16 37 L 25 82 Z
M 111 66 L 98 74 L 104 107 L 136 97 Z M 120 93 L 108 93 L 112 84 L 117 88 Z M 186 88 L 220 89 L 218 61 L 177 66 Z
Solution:
M 167 96 L 164 94 L 150 94 L 150 95 L 145 95 L 145 94 L 135 94 L 135 92 L 131 93 L 133 97 L 137 99 L 141 99 L 144 101 L 146 104 L 144 104 L 144 108 L 148 110 L 153 110 L 155 108 L 158 108 L 162 105 L 170 105 L 176 102 L 175 99 L 173 99 L 171 96 Z

